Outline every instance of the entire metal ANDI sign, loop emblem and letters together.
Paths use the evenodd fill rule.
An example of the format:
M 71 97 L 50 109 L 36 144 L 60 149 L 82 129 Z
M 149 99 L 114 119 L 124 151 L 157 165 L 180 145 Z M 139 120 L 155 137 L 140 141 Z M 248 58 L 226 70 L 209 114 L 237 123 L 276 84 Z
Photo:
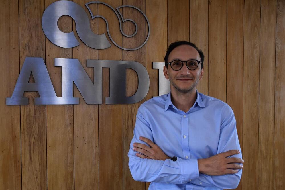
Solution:
M 133 37 L 137 33 L 137 24 L 131 19 L 124 19 L 119 11 L 122 7 L 137 9 L 143 14 L 148 23 L 148 36 L 140 46 L 127 49 L 119 46 L 109 33 L 107 20 L 100 16 L 94 16 L 89 8 L 92 3 L 104 4 L 112 9 L 119 19 L 120 31 L 126 37 Z M 92 19 L 100 17 L 105 20 L 107 33 L 111 41 L 123 50 L 137 50 L 141 48 L 150 35 L 150 24 L 146 15 L 137 7 L 123 5 L 116 10 L 106 3 L 92 1 L 86 3 Z M 64 33 L 58 28 L 58 19 L 63 15 L 69 15 L 76 23 L 76 32 L 79 38 L 87 46 L 95 49 L 105 49 L 111 46 L 105 34 L 94 34 L 90 28 L 88 15 L 82 7 L 72 1 L 56 1 L 47 7 L 42 15 L 42 29 L 46 37 L 55 45 L 62 48 L 72 48 L 80 43 L 73 32 Z M 131 21 L 135 24 L 136 30 L 132 35 L 126 35 L 122 31 L 122 23 Z M 79 98 L 73 97 L 73 83 L 78 88 L 87 104 L 102 104 L 102 68 L 110 68 L 110 89 L 109 97 L 105 98 L 106 104 L 131 104 L 141 101 L 149 89 L 149 75 L 146 68 L 135 61 L 117 60 L 90 60 L 87 59 L 87 67 L 94 68 L 94 81 L 90 79 L 78 59 L 55 58 L 54 66 L 62 68 L 62 97 L 57 97 L 52 85 L 50 76 L 46 69 L 43 58 L 26 57 L 21 68 L 17 83 L 11 97 L 6 98 L 6 105 L 27 105 L 28 98 L 23 97 L 25 91 L 37 91 L 40 97 L 35 97 L 36 105 L 57 105 L 57 104 L 79 104 Z M 168 93 L 170 90 L 169 81 L 163 75 L 163 62 L 153 62 L 153 68 L 159 70 L 159 95 Z M 134 95 L 126 95 L 126 69 L 136 71 L 138 76 L 138 87 Z M 35 83 L 29 83 L 30 75 L 33 75 Z

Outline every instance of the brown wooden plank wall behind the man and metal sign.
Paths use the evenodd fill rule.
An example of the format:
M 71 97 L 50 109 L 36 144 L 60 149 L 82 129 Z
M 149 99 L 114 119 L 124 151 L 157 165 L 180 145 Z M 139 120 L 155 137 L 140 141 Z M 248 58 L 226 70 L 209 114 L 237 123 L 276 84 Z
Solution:
M 89 1 L 74 0 L 86 11 Z M 139 105 L 158 95 L 158 70 L 152 62 L 163 62 L 167 46 L 177 40 L 190 40 L 205 53 L 198 90 L 233 108 L 245 160 L 237 189 L 285 187 L 284 0 L 104 0 L 114 8 L 134 5 L 146 13 L 150 38 L 135 51 L 114 44 L 105 50 L 82 42 L 75 48 L 55 46 L 41 28 L 42 14 L 52 2 L 0 1 L 1 190 L 147 189 L 149 183 L 132 179 L 127 152 Z M 107 18 L 119 45 L 133 48 L 146 38 L 147 25 L 137 11 L 123 8 L 124 18 L 135 20 L 139 30 L 125 38 L 110 9 L 92 5 L 91 10 Z M 60 18 L 58 25 L 64 32 L 75 31 L 71 17 Z M 91 28 L 103 34 L 105 21 L 94 19 Z M 123 30 L 131 34 L 134 26 L 126 22 Z M 29 105 L 7 106 L 5 97 L 11 97 L 27 56 L 44 58 L 58 97 L 61 68 L 54 67 L 54 58 L 79 59 L 92 80 L 86 59 L 137 61 L 150 75 L 150 89 L 141 102 L 129 105 L 86 105 L 74 86 L 79 105 L 34 105 L 38 93 L 26 92 Z M 136 87 L 135 72 L 127 70 L 127 95 Z M 103 102 L 108 93 L 109 69 L 104 68 Z

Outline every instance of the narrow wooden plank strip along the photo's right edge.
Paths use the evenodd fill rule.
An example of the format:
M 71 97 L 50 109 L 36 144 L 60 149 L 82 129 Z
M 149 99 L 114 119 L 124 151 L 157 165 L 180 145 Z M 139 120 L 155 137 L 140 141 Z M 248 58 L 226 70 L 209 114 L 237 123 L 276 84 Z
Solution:
M 285 187 L 285 2 L 278 0 L 276 26 L 274 190 Z

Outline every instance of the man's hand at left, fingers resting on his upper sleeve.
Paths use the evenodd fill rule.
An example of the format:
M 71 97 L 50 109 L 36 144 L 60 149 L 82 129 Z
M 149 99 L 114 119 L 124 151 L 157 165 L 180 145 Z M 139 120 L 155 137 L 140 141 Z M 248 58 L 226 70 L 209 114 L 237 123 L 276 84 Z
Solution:
M 146 144 L 148 144 L 149 146 L 147 146 L 145 144 L 137 143 L 137 142 L 134 143 L 133 144 L 133 146 L 134 146 L 133 150 L 141 153 L 141 154 L 136 153 L 136 156 L 138 156 L 140 158 L 148 158 L 148 159 L 154 159 L 154 160 L 170 159 L 169 156 L 164 154 L 164 152 L 160 149 L 159 146 L 154 144 L 148 138 L 140 136 L 139 139 L 142 140 L 143 142 L 145 142 Z

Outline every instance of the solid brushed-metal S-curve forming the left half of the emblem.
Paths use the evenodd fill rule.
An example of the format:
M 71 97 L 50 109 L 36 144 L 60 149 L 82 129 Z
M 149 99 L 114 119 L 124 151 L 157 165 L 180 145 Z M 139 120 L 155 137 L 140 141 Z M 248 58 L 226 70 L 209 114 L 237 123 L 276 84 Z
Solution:
M 73 31 L 64 33 L 58 28 L 57 21 L 63 15 L 74 19 L 76 32 L 87 46 L 94 49 L 105 49 L 111 46 L 105 34 L 97 35 L 92 32 L 88 15 L 84 9 L 72 1 L 65 0 L 50 4 L 42 15 L 42 30 L 53 44 L 62 48 L 73 48 L 79 45 Z

